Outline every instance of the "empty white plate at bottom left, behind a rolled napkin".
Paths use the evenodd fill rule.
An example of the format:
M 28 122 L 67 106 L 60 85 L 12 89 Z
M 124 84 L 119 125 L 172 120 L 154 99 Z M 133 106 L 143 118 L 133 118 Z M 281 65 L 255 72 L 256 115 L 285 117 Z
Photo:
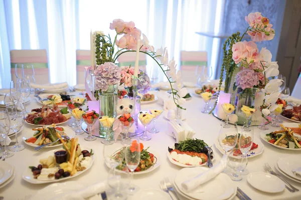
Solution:
M 35 194 L 31 199 L 32 200 L 55 199 L 58 195 L 61 195 L 63 193 L 68 193 L 71 191 L 80 190 L 83 189 L 84 187 L 85 186 L 79 184 L 77 181 L 56 182 L 42 189 L 38 189 L 37 194 Z

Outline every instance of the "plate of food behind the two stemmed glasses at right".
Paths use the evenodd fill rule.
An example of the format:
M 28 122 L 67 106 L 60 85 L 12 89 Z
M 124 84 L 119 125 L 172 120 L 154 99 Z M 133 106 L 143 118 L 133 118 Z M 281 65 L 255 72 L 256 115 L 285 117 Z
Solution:
M 240 134 L 238 134 L 238 136 L 240 137 Z M 214 144 L 215 144 L 216 148 L 222 154 L 225 153 L 224 149 L 221 147 L 221 145 L 219 144 L 219 142 L 218 142 L 217 139 L 214 141 Z M 260 155 L 263 152 L 263 149 L 264 149 L 264 145 L 262 144 L 262 142 L 260 141 L 260 139 L 254 137 L 253 138 L 252 147 L 251 147 L 250 151 L 247 153 L 247 157 L 249 158 L 249 157 L 254 157 L 256 155 Z M 239 150 L 239 139 L 238 139 L 238 142 L 237 142 L 235 148 L 233 149 L 233 151 L 231 152 L 231 154 L 229 156 L 242 158 L 242 153 Z

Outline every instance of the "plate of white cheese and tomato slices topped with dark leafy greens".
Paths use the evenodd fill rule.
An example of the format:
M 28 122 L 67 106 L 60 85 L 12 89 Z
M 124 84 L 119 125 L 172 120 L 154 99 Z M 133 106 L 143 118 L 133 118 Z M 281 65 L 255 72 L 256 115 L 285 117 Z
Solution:
M 208 160 L 208 146 L 204 140 L 186 139 L 168 147 L 167 157 L 169 161 L 181 167 L 204 166 Z M 211 153 L 211 160 L 214 156 Z

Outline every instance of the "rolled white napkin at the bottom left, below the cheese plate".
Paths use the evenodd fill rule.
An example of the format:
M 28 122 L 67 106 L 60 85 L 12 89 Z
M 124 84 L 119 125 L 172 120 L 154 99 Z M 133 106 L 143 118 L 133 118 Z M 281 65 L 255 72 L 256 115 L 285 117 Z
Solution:
M 104 189 L 105 189 L 105 183 L 100 182 L 100 183 L 86 186 L 85 188 L 78 191 L 65 192 L 60 196 L 56 196 L 55 198 L 53 198 L 53 200 L 55 199 L 61 199 L 61 200 L 102 199 L 99 193 L 103 192 Z

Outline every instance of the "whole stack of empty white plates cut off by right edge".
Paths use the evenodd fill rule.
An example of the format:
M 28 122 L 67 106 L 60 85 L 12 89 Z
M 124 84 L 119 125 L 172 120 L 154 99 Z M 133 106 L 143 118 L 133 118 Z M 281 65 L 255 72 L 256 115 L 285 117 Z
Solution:
M 301 176 L 292 172 L 293 169 L 301 167 L 299 159 L 296 157 L 283 157 L 279 158 L 275 164 L 276 169 L 285 177 L 301 183 Z

